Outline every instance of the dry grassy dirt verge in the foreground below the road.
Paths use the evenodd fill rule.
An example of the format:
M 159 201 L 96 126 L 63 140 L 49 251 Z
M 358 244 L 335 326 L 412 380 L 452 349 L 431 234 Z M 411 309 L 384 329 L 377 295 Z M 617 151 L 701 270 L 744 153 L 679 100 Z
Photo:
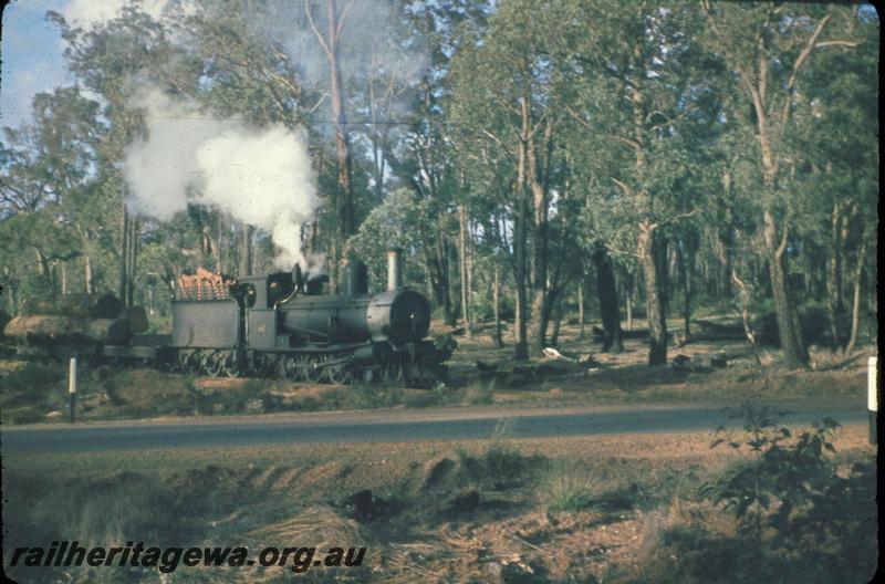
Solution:
M 864 440 L 860 429 L 841 431 L 841 468 L 872 460 Z M 164 456 L 11 460 L 6 541 L 72 533 L 104 545 L 137 536 L 149 545 L 366 546 L 362 567 L 317 569 L 309 580 L 385 583 L 725 582 L 746 545 L 735 517 L 700 494 L 742 460 L 711 450 L 707 434 L 501 435 L 491 442 L 243 450 L 225 461 L 211 450 Z M 854 512 L 875 513 L 875 503 Z M 148 575 L 107 567 L 14 573 L 19 582 Z M 180 575 L 291 577 L 279 567 Z

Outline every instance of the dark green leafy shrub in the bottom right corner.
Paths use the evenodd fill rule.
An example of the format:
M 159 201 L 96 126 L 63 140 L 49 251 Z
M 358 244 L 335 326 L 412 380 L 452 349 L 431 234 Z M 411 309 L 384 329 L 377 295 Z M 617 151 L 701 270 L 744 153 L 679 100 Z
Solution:
M 745 403 L 732 418 L 742 436 L 718 437 L 749 453 L 701 494 L 732 513 L 739 538 L 767 577 L 861 582 L 875 571 L 876 476 L 873 463 L 837 472 L 833 437 L 839 423 L 824 418 L 793 437 L 784 413 Z M 717 430 L 721 432 L 720 428 Z

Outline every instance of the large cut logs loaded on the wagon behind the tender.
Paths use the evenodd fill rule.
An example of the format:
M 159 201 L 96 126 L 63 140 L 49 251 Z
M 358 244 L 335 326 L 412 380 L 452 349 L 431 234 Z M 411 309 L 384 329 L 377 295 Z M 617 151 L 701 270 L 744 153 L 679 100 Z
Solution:
M 148 328 L 142 306 L 126 309 L 113 294 L 65 294 L 55 303 L 24 306 L 25 314 L 6 325 L 6 336 L 27 343 L 94 341 L 126 344 L 135 333 Z

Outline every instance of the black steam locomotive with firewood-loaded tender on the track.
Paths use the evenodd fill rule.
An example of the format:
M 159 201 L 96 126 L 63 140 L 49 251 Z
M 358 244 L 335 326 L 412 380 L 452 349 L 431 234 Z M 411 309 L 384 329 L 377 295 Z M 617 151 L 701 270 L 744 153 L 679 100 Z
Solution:
M 219 274 L 185 277 L 171 302 L 170 335 L 129 334 L 125 342 L 119 334 L 114 340 L 77 338 L 76 350 L 210 376 L 426 386 L 445 377 L 454 347 L 427 338 L 430 305 L 403 286 L 400 261 L 399 250 L 388 251 L 387 289 L 375 294 L 368 293 L 366 267 L 358 261 L 347 265 L 344 294 L 323 294 L 327 277 L 304 273 L 298 264 L 291 272 L 229 281 Z M 29 317 L 7 326 L 7 335 L 19 342 L 19 354 L 35 348 L 60 354 L 58 343 L 21 319 Z M 74 336 L 66 337 L 69 351 Z

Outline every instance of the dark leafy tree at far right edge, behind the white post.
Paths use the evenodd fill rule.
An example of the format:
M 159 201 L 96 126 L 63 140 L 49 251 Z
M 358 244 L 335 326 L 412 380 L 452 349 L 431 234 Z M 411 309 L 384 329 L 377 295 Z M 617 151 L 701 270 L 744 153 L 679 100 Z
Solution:
M 802 153 L 796 231 L 804 246 L 822 250 L 823 261 L 810 268 L 825 282 L 832 346 L 846 353 L 857 341 L 863 275 L 875 280 L 878 231 L 878 22 L 861 12 L 854 27 L 857 46 L 809 63 L 790 144 Z

